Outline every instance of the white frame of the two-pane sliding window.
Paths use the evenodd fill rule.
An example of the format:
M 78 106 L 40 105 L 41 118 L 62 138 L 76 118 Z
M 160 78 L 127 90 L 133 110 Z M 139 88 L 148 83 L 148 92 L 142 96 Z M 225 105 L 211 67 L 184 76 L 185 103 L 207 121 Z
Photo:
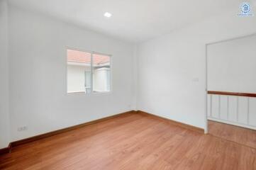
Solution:
M 91 93 L 86 94 L 85 91 L 77 91 L 77 92 L 67 92 L 67 50 L 77 50 L 77 51 L 82 51 L 82 52 L 88 52 L 91 54 Z M 100 92 L 96 92 L 94 91 L 94 82 L 93 82 L 93 55 L 105 55 L 108 56 L 110 58 L 110 89 L 109 91 L 100 91 Z M 113 86 L 112 86 L 112 55 L 108 55 L 106 53 L 101 53 L 101 52 L 94 52 L 94 51 L 90 51 L 90 50 L 84 50 L 82 48 L 77 48 L 77 47 L 69 47 L 66 46 L 65 48 L 65 94 L 66 95 L 73 95 L 73 94 L 84 94 L 86 96 L 91 96 L 91 95 L 104 95 L 104 94 L 112 94 L 113 91 Z

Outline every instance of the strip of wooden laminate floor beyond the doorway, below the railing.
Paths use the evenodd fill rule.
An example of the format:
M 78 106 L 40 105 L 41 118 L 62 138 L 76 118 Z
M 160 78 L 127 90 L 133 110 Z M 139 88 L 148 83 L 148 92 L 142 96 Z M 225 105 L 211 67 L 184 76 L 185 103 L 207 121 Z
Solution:
M 208 120 L 208 133 L 256 149 L 256 130 Z

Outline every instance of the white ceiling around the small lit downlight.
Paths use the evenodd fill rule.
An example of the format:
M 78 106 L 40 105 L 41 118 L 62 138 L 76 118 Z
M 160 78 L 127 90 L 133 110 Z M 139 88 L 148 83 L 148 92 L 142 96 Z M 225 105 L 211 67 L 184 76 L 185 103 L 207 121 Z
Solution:
M 239 9 L 241 0 L 9 0 L 99 33 L 140 42 Z M 111 18 L 104 17 L 105 12 Z

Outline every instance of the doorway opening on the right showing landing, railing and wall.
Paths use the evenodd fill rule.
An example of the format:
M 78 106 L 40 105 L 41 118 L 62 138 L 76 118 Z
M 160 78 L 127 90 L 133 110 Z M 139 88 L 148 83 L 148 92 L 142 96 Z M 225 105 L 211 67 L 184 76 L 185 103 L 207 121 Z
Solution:
M 206 45 L 206 130 L 256 148 L 256 34 Z

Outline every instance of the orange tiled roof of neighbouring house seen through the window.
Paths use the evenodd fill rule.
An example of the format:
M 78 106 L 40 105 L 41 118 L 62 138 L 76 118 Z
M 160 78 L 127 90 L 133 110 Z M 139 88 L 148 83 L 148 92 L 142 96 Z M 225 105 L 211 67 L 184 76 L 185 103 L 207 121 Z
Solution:
M 67 50 L 67 62 L 78 62 L 78 63 L 91 63 L 91 53 Z M 94 64 L 104 64 L 110 62 L 110 57 L 106 55 L 93 55 Z

